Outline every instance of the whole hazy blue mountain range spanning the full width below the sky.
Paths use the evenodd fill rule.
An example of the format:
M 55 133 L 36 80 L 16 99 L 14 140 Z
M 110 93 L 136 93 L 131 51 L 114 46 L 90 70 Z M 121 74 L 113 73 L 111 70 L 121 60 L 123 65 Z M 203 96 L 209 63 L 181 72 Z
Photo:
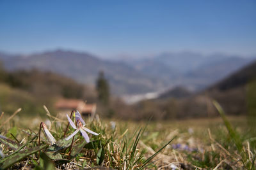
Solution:
M 178 85 L 191 90 L 204 89 L 255 58 L 180 52 L 138 60 L 104 60 L 90 53 L 67 50 L 31 55 L 0 53 L 0 60 L 10 71 L 37 68 L 90 85 L 95 84 L 99 71 L 104 71 L 111 93 L 118 96 L 163 91 Z

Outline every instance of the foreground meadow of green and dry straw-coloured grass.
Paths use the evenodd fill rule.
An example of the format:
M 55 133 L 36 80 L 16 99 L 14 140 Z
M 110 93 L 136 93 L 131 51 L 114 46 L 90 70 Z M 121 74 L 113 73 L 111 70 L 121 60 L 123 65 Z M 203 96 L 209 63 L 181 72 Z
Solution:
M 73 142 L 65 140 L 75 131 L 69 125 L 63 137 L 67 118 L 55 118 L 49 113 L 47 119 L 26 118 L 19 113 L 13 118 L 3 115 L 0 139 L 5 157 L 0 159 L 0 166 L 2 169 L 255 169 L 256 138 L 246 117 L 226 119 L 221 115 L 222 118 L 148 123 L 84 118 L 86 127 L 99 133 L 98 136 L 88 133 L 90 143 L 80 133 Z M 54 145 L 43 130 L 38 145 L 40 122 L 45 122 L 56 139 Z

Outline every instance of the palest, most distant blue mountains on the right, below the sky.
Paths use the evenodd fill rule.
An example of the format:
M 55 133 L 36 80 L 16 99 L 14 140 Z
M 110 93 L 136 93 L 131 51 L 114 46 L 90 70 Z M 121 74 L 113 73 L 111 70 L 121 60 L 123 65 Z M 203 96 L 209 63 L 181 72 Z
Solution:
M 175 87 L 201 90 L 246 66 L 256 57 L 214 53 L 202 55 L 193 52 L 163 53 L 150 59 L 132 61 L 134 69 L 161 78 Z

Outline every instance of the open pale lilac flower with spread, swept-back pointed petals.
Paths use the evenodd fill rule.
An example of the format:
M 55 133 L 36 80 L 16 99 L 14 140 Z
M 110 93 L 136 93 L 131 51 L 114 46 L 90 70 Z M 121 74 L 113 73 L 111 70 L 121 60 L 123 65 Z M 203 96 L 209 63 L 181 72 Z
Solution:
M 78 114 L 77 114 L 77 113 L 78 113 Z M 81 132 L 83 138 L 86 140 L 87 143 L 90 142 L 90 138 L 89 138 L 89 136 L 88 136 L 88 134 L 87 134 L 86 132 L 89 132 L 89 133 L 94 134 L 94 135 L 99 135 L 99 134 L 97 134 L 97 133 L 91 131 L 90 129 L 84 127 L 85 122 L 84 122 L 83 118 L 81 117 L 81 115 L 80 115 L 80 113 L 79 113 L 78 111 L 76 112 L 76 122 L 77 122 L 77 124 L 78 124 L 77 127 L 76 127 L 76 125 L 74 124 L 74 122 L 68 117 L 68 115 L 67 115 L 67 118 L 68 118 L 69 124 L 70 124 L 74 129 L 76 129 L 76 131 L 74 131 L 70 136 L 68 136 L 68 137 L 66 138 L 67 141 L 68 141 L 69 139 L 71 139 L 73 136 L 75 136 L 75 135 L 77 134 L 77 132 L 79 132 L 79 131 Z M 82 125 L 82 122 L 83 122 L 83 125 Z M 86 132 L 85 132 L 85 131 L 86 131 Z

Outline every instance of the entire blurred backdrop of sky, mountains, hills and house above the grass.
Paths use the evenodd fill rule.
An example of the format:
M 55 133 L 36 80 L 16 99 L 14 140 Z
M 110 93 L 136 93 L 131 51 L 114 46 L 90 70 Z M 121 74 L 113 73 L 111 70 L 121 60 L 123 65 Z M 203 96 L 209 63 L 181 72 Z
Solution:
M 0 111 L 256 112 L 255 1 L 0 1 Z

